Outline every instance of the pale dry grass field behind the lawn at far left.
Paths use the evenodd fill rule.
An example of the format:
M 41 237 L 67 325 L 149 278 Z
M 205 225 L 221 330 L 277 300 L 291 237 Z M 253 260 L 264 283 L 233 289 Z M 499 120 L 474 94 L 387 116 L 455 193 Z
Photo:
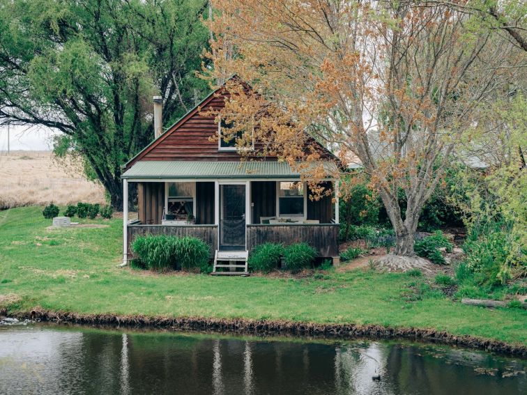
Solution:
M 0 210 L 19 206 L 105 203 L 102 186 L 86 180 L 70 163 L 49 151 L 0 153 Z

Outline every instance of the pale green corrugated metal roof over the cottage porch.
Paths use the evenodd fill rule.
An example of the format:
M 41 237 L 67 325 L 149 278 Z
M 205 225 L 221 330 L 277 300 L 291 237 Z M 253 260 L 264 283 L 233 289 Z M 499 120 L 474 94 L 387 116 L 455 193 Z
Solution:
M 328 162 L 326 168 L 335 166 Z M 331 167 L 330 167 L 331 166 Z M 286 162 L 167 162 L 142 161 L 122 178 L 299 178 Z

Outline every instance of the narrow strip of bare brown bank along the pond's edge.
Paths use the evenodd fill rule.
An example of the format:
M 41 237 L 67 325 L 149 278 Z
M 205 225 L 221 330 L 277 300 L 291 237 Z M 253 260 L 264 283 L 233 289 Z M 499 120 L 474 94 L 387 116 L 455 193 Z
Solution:
M 256 336 L 289 335 L 310 336 L 326 339 L 411 339 L 443 343 L 467 348 L 527 357 L 527 346 L 509 344 L 503 341 L 482 339 L 469 335 L 454 335 L 422 328 L 385 327 L 382 325 L 355 324 L 315 324 L 292 322 L 288 320 L 247 320 L 242 318 L 203 318 L 165 316 L 116 316 L 107 314 L 81 314 L 64 311 L 47 311 L 36 307 L 30 311 L 9 313 L 0 309 L 0 315 L 18 319 L 51 321 L 55 323 L 77 323 L 89 325 L 123 325 L 133 327 L 156 327 L 169 330 L 211 331 L 235 334 L 250 334 Z

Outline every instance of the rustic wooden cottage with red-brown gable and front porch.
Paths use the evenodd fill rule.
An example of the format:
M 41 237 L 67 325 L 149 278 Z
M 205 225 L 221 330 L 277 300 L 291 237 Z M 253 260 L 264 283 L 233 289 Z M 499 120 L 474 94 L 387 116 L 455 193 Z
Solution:
M 217 267 L 244 268 L 251 249 L 265 242 L 307 242 L 321 257 L 338 258 L 338 196 L 309 199 L 307 184 L 276 157 L 242 161 L 236 141 L 221 138 L 224 125 L 207 116 L 224 106 L 222 88 L 162 132 L 160 98 L 154 98 L 155 140 L 125 164 L 137 183 L 138 219 L 123 218 L 123 263 L 138 235 L 190 235 L 211 247 Z M 213 141 L 211 137 L 220 136 Z M 325 150 L 325 148 L 322 148 Z M 326 151 L 326 157 L 331 154 Z M 323 180 L 334 191 L 335 180 Z M 218 271 L 220 272 L 220 271 Z

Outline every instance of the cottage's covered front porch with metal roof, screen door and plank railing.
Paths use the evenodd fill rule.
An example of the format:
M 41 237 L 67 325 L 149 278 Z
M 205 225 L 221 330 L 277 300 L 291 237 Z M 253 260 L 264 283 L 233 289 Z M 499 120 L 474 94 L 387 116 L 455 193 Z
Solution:
M 310 199 L 307 184 L 282 162 L 138 162 L 123 174 L 137 183 L 138 219 L 123 219 L 123 263 L 138 235 L 188 235 L 215 251 L 250 251 L 265 242 L 307 242 L 321 257 L 338 256 L 338 184 Z M 335 193 L 336 192 L 336 193 Z M 128 199 L 125 199 L 128 201 Z

